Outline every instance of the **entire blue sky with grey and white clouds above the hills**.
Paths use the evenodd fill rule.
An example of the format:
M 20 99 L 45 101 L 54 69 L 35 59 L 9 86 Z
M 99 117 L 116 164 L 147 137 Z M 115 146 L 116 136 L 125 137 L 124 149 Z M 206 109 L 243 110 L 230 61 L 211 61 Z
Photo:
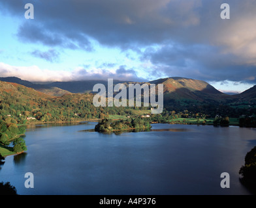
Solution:
M 255 22 L 256 0 L 1 0 L 0 76 L 187 77 L 242 92 L 256 85 Z

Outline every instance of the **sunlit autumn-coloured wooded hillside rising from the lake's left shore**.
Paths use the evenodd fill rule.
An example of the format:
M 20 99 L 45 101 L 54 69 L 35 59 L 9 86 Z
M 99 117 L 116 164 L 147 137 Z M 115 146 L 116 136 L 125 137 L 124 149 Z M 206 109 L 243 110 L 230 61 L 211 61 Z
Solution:
M 99 108 L 93 94 L 49 96 L 33 88 L 0 81 L 0 120 L 15 123 L 74 122 L 125 114 L 124 108 Z

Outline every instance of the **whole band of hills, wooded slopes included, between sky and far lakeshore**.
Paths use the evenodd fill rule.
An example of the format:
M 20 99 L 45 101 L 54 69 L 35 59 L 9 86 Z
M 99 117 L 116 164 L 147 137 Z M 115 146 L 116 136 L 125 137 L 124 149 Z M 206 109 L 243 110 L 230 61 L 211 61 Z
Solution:
M 19 122 L 23 122 L 31 116 L 40 121 L 73 121 L 76 118 L 103 118 L 104 115 L 108 114 L 132 114 L 131 110 L 150 110 L 150 107 L 147 109 L 143 105 L 141 109 L 139 107 L 132 107 L 132 109 L 123 107 L 99 108 L 93 105 L 94 95 L 92 93 L 71 93 L 69 91 L 86 92 L 88 90 L 91 92 L 95 84 L 102 83 L 107 86 L 107 81 L 39 84 L 30 83 L 17 77 L 7 77 L 4 80 L 11 82 L 0 81 L 0 117 L 4 116 L 5 119 L 12 117 Z M 116 83 L 121 83 L 121 81 L 114 81 L 114 84 Z M 125 82 L 124 84 L 128 86 L 129 83 L 136 84 L 136 82 Z M 149 81 L 148 84 L 163 84 L 164 108 L 167 111 L 189 110 L 196 114 L 202 112 L 212 117 L 220 114 L 234 116 L 234 118 L 256 113 L 256 86 L 241 94 L 231 96 L 219 92 L 205 81 L 183 77 L 157 79 Z M 128 111 L 125 112 L 125 110 Z

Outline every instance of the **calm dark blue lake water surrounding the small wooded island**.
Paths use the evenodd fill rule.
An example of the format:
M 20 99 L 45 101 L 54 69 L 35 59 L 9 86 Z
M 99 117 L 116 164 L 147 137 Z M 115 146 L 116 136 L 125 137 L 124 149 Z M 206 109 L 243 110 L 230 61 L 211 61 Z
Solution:
M 5 159 L 0 181 L 18 194 L 251 194 L 238 171 L 256 146 L 255 129 L 153 124 L 153 131 L 121 135 L 82 131 L 95 124 L 28 126 L 27 152 Z M 26 172 L 35 188 L 25 188 Z M 230 188 L 220 187 L 222 172 Z

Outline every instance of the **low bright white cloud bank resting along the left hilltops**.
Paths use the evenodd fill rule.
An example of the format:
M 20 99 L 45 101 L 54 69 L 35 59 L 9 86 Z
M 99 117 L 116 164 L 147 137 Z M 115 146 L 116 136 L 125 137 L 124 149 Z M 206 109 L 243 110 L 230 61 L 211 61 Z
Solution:
M 126 70 L 120 66 L 116 71 L 108 71 L 99 68 L 75 68 L 72 71 L 40 69 L 38 66 L 10 66 L 0 62 L 0 77 L 18 77 L 26 81 L 82 81 L 89 79 L 118 79 L 122 81 L 138 81 L 136 72 L 132 69 Z M 140 79 L 142 81 L 143 79 Z

